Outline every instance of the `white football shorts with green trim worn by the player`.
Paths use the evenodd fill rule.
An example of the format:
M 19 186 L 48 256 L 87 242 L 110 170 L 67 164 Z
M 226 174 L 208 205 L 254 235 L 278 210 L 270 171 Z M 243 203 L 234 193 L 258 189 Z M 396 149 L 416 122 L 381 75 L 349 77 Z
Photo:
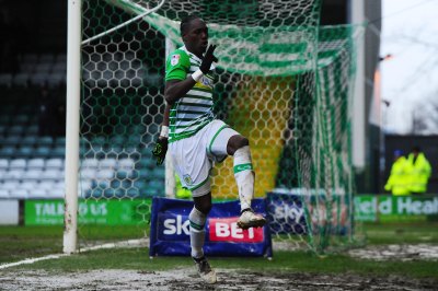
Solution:
M 214 162 L 222 162 L 227 156 L 228 140 L 240 135 L 222 120 L 212 120 L 189 138 L 169 144 L 175 172 L 183 187 L 199 197 L 211 191 L 210 171 Z

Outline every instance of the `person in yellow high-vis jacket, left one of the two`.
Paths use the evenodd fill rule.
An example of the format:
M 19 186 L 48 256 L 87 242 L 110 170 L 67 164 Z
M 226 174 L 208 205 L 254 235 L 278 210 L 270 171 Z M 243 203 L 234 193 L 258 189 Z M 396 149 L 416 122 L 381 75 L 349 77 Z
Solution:
M 393 195 L 410 195 L 410 178 L 407 172 L 407 160 L 400 150 L 394 151 L 394 163 L 384 189 Z

